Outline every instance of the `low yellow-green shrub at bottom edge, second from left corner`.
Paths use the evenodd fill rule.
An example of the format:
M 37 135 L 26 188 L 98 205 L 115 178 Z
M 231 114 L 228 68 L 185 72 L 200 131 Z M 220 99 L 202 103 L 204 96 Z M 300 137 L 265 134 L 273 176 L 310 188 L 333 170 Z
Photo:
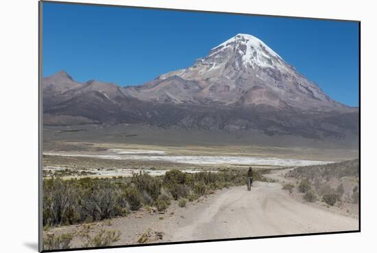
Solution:
M 90 248 L 90 247 L 107 247 L 110 246 L 111 243 L 119 241 L 121 237 L 121 232 L 116 230 L 104 230 L 101 229 L 97 234 L 90 235 L 88 230 L 84 230 L 81 232 L 81 237 L 83 238 L 84 244 L 82 247 Z

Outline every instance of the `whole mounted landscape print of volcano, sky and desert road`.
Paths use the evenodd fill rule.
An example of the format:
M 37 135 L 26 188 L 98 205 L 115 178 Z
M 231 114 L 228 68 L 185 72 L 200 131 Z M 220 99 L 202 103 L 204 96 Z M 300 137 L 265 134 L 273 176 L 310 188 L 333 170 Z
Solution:
M 40 250 L 358 232 L 359 25 L 40 2 Z

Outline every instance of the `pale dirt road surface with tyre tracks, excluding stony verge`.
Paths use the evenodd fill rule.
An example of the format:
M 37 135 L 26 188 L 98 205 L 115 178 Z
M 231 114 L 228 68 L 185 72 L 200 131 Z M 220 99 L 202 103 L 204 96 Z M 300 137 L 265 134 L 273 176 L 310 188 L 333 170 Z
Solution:
M 278 183 L 255 182 L 214 197 L 169 241 L 357 230 L 358 220 L 295 200 Z

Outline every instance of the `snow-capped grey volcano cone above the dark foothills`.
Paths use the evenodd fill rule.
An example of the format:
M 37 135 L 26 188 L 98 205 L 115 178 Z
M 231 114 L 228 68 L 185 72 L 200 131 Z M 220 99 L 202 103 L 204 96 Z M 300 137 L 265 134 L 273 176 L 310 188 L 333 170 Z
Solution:
M 193 66 L 160 75 L 125 94 L 169 104 L 224 104 L 348 110 L 298 73 L 262 40 L 237 34 Z

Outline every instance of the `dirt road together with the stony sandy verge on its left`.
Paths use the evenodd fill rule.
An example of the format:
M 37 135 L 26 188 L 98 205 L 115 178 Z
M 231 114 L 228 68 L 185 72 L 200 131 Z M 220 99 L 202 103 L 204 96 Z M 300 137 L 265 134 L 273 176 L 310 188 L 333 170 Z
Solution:
M 269 177 L 282 180 L 284 173 L 283 170 Z M 119 230 L 121 237 L 114 245 L 138 243 L 147 231 L 151 231 L 152 237 L 145 243 L 358 230 L 358 219 L 292 197 L 282 190 L 280 182 L 254 182 L 253 185 L 251 191 L 246 186 L 217 191 L 189 202 L 185 208 L 173 202 L 163 214 L 138 211 L 110 222 L 100 221 L 92 229 L 93 232 L 101 228 Z M 77 229 L 80 226 L 59 230 Z M 154 238 L 154 232 L 163 237 Z M 78 239 L 72 243 L 73 247 L 82 245 Z

